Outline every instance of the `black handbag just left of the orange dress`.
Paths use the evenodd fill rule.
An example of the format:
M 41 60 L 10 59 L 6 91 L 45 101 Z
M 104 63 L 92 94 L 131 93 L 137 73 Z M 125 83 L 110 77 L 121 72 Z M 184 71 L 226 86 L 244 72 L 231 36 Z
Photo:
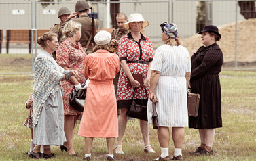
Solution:
M 87 79 L 88 78 L 86 78 L 86 80 Z M 84 81 L 84 83 L 81 85 L 81 87 L 83 88 L 85 85 L 86 85 L 86 81 Z M 75 108 L 75 110 L 77 110 L 79 112 L 84 111 L 86 91 L 87 91 L 87 88 L 86 89 L 78 89 L 78 91 L 75 90 L 75 88 L 74 88 L 69 96 L 70 106 L 72 106 L 73 108 Z

